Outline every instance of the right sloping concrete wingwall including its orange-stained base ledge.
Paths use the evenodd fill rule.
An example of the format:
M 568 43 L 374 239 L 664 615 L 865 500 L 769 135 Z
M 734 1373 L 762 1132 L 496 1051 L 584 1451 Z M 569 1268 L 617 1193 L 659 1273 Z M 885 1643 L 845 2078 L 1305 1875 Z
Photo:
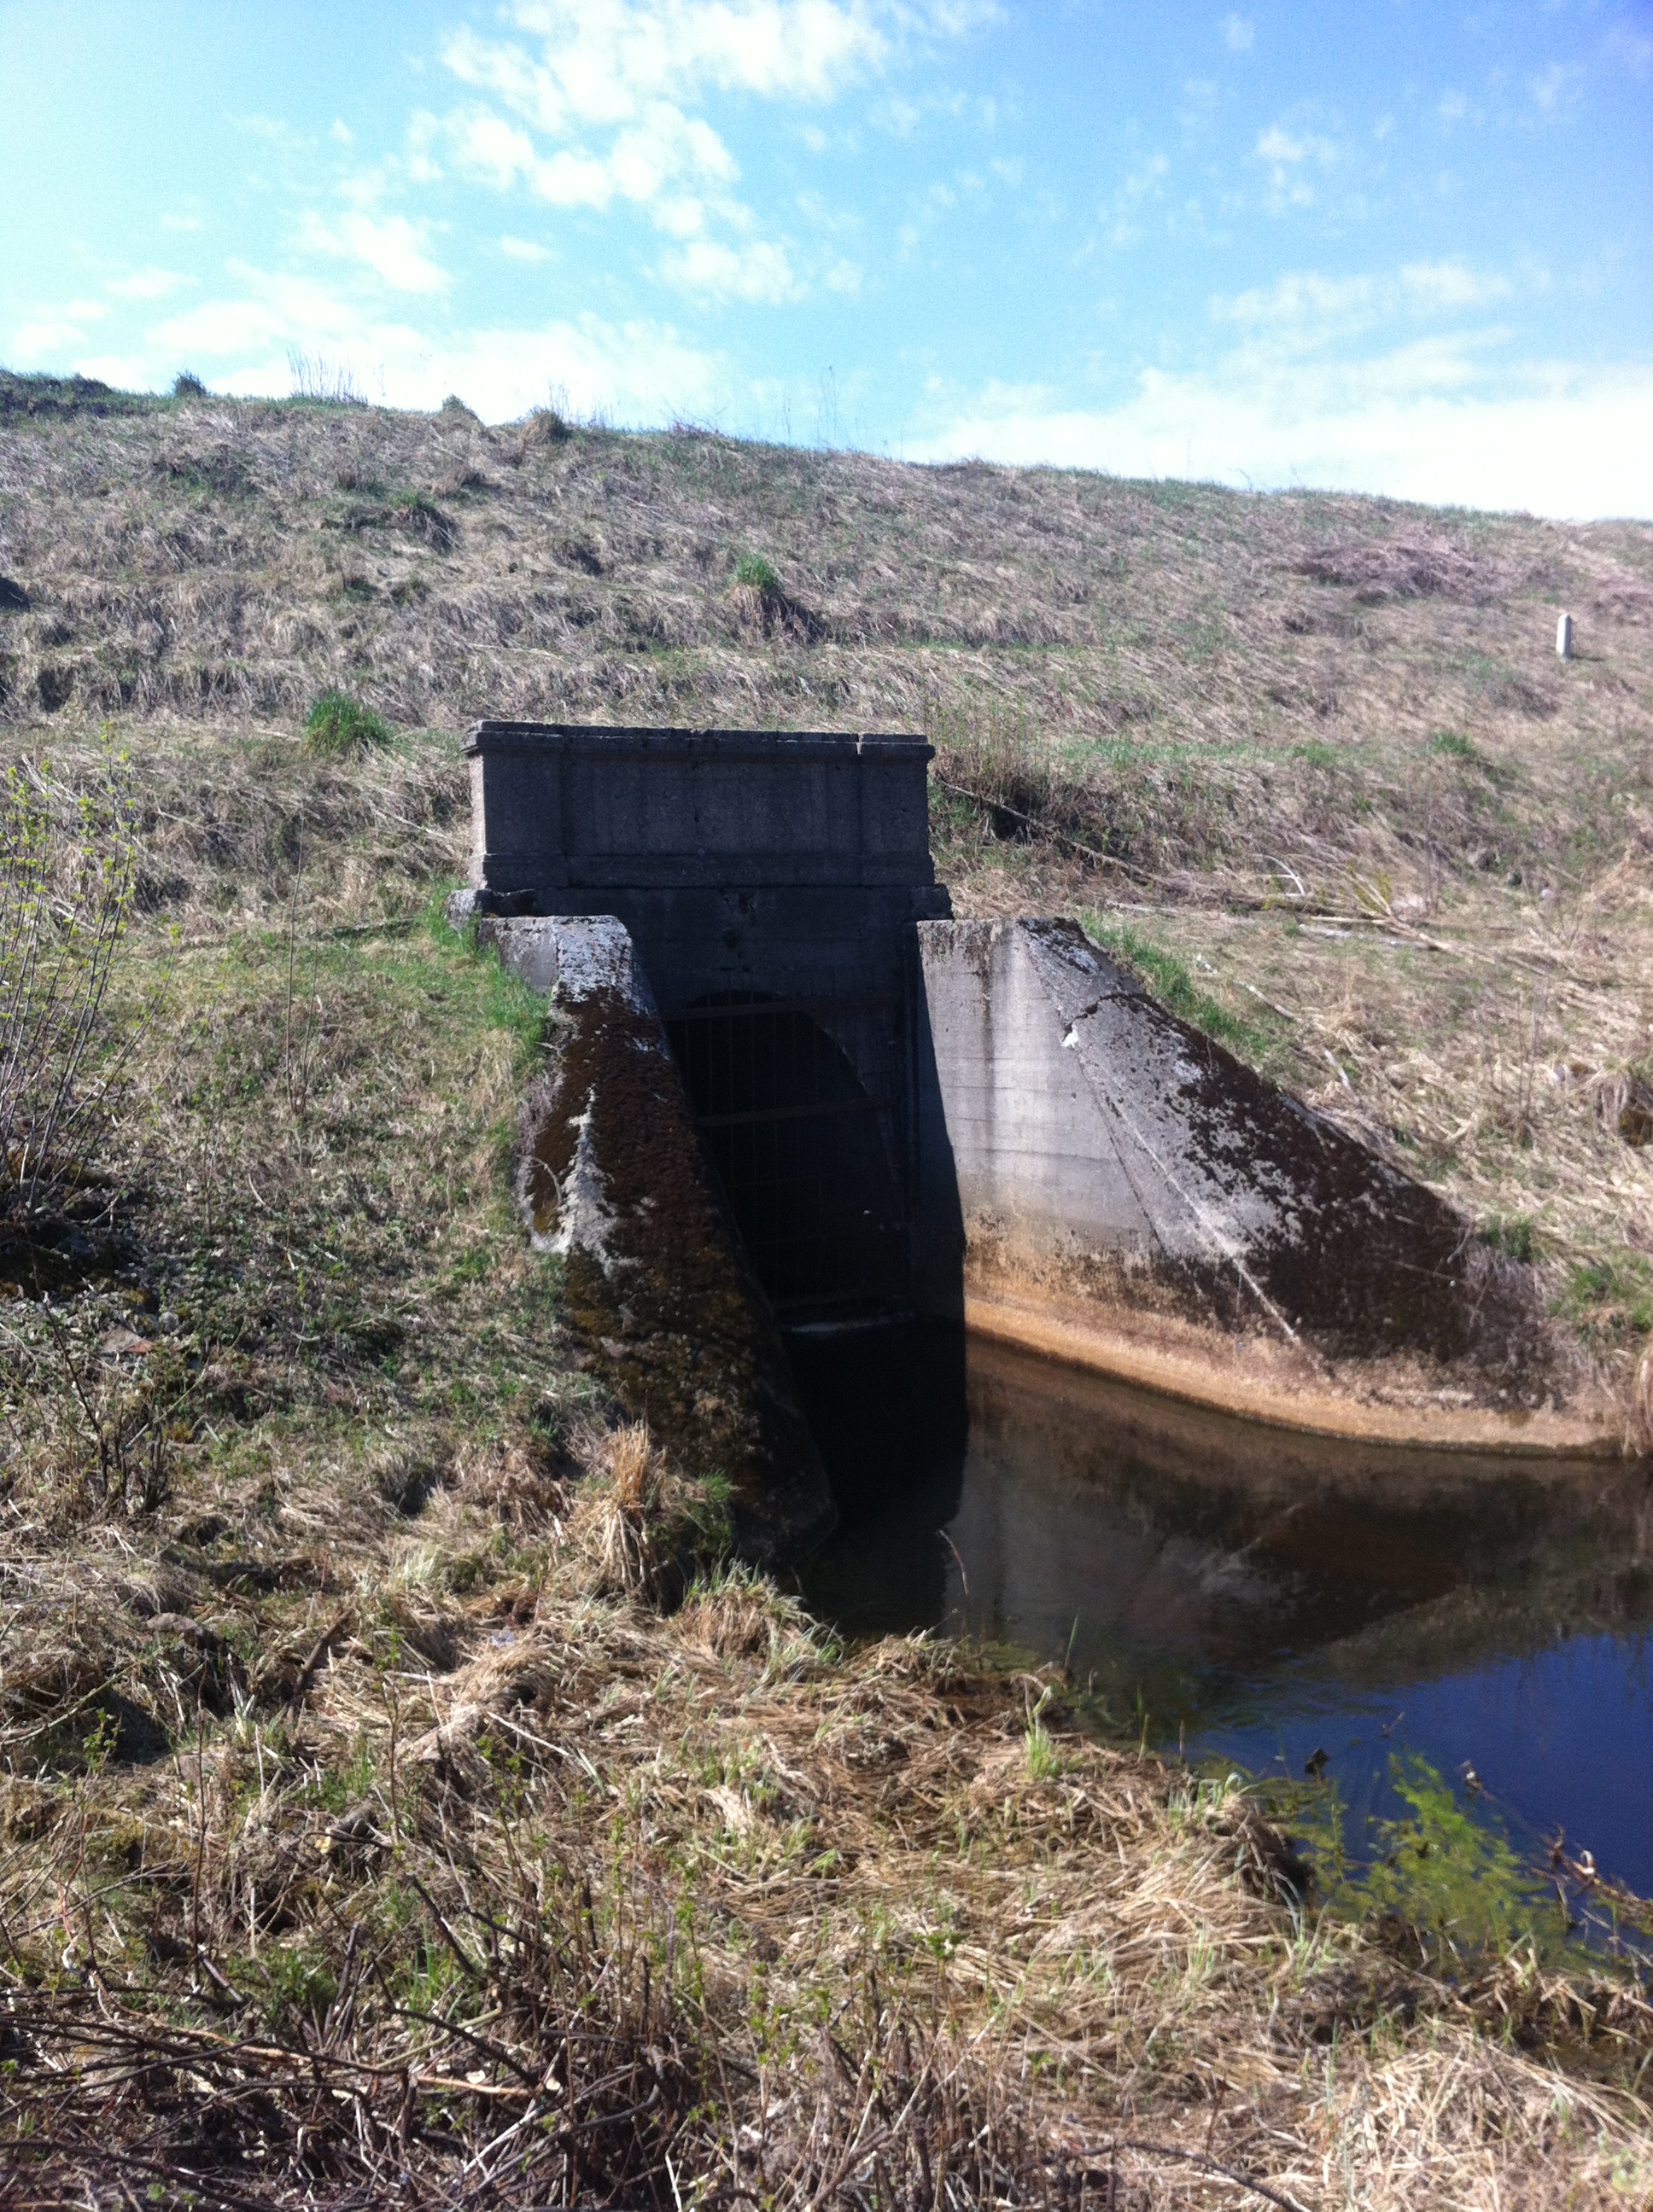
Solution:
M 1288 1427 L 1595 1449 L 1525 1270 L 1075 922 L 918 927 L 929 1312 Z

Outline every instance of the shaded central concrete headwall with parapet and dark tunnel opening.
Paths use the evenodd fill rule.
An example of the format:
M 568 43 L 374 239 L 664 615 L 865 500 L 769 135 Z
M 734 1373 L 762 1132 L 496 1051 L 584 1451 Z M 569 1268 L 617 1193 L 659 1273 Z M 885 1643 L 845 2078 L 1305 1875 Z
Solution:
M 626 925 L 788 1318 L 905 1298 L 912 922 L 949 914 L 929 858 L 929 745 L 482 721 L 467 752 L 462 902 Z M 861 1221 L 879 1232 L 841 1234 Z

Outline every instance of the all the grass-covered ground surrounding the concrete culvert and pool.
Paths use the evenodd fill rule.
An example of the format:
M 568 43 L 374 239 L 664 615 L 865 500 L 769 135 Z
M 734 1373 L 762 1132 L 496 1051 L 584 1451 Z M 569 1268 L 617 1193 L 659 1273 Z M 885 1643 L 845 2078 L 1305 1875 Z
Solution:
M 0 1011 L 46 947 L 115 1077 L 44 1172 L 62 1026 L 0 1053 L 0 2205 L 1642 2203 L 1653 2011 L 1549 1867 L 1447 1807 L 1325 1911 L 1060 1670 L 843 1652 L 730 1564 L 527 1248 L 555 1037 L 440 889 L 480 710 L 921 723 L 963 909 L 1089 909 L 1629 1376 L 1646 575 L 0 378 Z M 328 688 L 392 737 L 305 748 Z

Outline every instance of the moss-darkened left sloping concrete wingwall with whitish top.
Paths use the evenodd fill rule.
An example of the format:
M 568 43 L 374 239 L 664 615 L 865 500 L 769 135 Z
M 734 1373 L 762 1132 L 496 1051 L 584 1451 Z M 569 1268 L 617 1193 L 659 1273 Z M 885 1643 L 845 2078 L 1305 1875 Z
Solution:
M 482 916 L 478 940 L 560 1018 L 524 1106 L 518 1201 L 562 1259 L 582 1345 L 686 1467 L 728 1475 L 746 1557 L 808 1553 L 832 1531 L 832 1491 L 628 931 Z

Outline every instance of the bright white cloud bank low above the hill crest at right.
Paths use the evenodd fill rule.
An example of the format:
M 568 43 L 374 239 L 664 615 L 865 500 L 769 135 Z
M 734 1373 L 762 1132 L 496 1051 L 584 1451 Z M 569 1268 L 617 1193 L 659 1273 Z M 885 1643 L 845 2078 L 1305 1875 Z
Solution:
M 1363 363 L 1146 369 L 1131 398 L 1064 409 L 989 387 L 918 460 L 980 456 L 1228 484 L 1314 484 L 1545 515 L 1653 518 L 1653 367 L 1529 363 L 1496 380 L 1449 341 Z

